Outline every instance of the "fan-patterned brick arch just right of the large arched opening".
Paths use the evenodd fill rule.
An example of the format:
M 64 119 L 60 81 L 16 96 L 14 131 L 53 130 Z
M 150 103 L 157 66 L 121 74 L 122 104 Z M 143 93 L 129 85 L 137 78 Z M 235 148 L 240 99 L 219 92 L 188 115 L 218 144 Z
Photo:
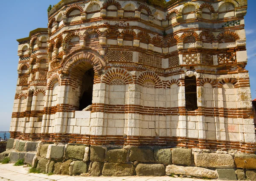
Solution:
M 101 82 L 109 85 L 113 79 L 122 79 L 125 85 L 133 83 L 131 74 L 121 68 L 108 71 L 102 76 Z

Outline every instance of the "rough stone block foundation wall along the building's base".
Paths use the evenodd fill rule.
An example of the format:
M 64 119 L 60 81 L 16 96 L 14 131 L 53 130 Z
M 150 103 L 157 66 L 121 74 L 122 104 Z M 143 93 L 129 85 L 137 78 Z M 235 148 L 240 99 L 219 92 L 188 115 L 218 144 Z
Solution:
M 235 150 L 117 147 L 10 140 L 11 162 L 25 160 L 42 173 L 91 176 L 186 176 L 255 180 L 256 155 Z

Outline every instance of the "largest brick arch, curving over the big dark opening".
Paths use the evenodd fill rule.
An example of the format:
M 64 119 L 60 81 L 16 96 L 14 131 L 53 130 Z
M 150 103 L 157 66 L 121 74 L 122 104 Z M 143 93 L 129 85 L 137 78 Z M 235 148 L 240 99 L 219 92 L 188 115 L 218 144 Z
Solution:
M 101 71 L 103 68 L 102 62 L 100 61 L 99 57 L 89 51 L 84 52 L 83 50 L 81 50 L 71 53 L 67 58 L 64 59 L 62 64 L 62 73 L 69 74 L 70 72 L 72 72 L 73 68 L 75 68 L 76 65 L 81 62 L 92 65 L 94 72 L 98 74 L 99 71 Z

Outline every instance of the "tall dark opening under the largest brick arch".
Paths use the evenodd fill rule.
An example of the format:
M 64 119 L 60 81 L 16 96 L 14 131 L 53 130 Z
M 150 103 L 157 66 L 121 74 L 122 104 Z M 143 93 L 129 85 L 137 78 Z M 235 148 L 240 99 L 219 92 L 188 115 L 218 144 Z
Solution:
M 79 100 L 79 110 L 83 110 L 89 105 L 92 105 L 93 101 L 93 77 L 94 70 L 90 68 L 85 72 L 82 80 L 80 100 Z

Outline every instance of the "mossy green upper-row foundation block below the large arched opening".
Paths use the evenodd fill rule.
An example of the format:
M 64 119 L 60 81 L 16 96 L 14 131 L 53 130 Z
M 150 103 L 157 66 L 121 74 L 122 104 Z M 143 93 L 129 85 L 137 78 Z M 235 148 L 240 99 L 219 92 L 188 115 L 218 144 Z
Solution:
M 84 149 L 85 146 L 83 145 L 68 145 L 66 148 L 65 157 L 83 160 Z

